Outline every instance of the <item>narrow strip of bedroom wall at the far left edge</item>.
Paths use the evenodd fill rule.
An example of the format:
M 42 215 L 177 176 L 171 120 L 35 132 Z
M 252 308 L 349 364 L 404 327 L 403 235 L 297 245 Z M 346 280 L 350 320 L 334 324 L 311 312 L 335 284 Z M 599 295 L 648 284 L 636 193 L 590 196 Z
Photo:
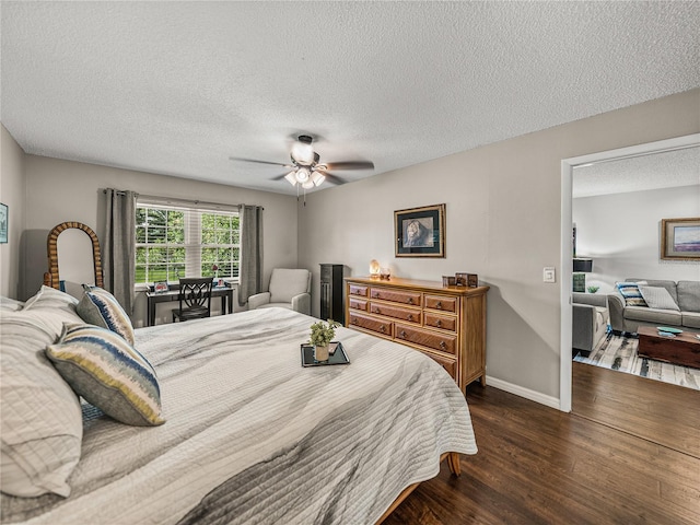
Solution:
M 24 230 L 24 151 L 0 125 L 0 202 L 8 206 L 8 243 L 0 244 L 0 295 L 20 298 L 20 254 Z

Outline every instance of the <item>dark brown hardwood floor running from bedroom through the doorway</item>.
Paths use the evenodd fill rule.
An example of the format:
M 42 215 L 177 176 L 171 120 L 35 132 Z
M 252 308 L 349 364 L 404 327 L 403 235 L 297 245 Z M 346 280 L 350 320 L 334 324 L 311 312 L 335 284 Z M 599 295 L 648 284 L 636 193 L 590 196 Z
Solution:
M 384 523 L 699 524 L 700 393 L 630 377 L 574 363 L 572 413 L 469 385 L 478 454 Z

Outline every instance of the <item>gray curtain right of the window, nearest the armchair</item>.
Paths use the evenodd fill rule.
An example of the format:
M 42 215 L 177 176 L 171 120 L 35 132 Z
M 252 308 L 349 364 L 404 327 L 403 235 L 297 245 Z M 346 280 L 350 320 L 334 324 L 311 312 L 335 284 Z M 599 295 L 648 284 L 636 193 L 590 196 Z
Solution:
M 238 306 L 262 290 L 262 207 L 241 205 Z

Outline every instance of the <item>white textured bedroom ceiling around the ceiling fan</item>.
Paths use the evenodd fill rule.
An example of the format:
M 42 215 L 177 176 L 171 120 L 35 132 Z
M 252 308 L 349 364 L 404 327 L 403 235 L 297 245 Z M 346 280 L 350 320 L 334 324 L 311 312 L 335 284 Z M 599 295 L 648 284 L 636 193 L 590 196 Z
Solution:
M 294 194 L 700 85 L 700 2 L 2 1 L 2 124 L 27 152 Z M 328 187 L 324 184 L 320 188 Z

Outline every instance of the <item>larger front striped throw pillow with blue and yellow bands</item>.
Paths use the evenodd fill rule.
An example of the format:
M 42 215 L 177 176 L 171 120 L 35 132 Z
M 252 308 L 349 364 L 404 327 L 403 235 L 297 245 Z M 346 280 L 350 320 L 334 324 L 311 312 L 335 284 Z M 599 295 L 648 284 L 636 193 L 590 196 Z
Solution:
M 73 390 L 107 416 L 138 427 L 165 422 L 153 366 L 114 331 L 66 324 L 46 354 Z

